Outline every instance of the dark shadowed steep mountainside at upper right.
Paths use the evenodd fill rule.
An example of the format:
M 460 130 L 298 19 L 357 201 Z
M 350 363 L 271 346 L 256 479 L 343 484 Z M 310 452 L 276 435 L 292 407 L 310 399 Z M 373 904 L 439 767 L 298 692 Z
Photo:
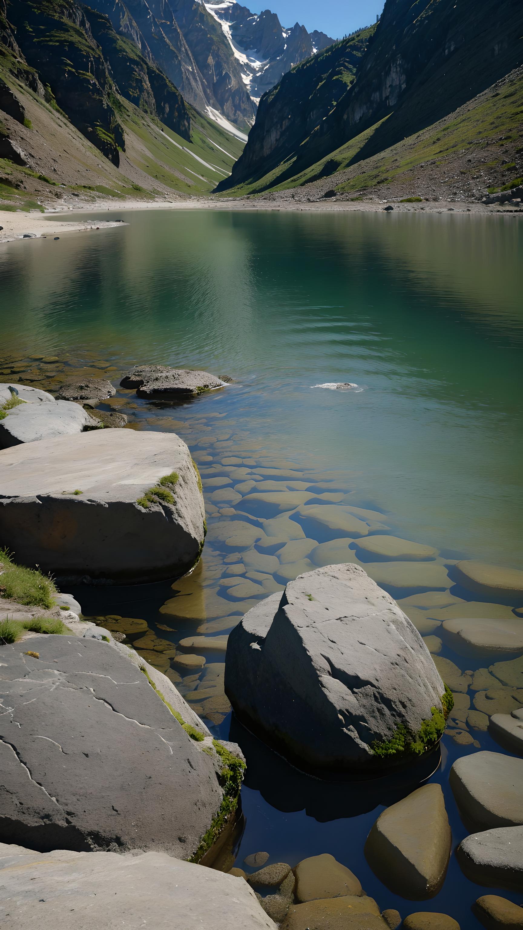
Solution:
M 312 72 L 304 62 L 262 97 L 248 144 L 217 190 L 263 191 L 293 178 L 300 183 L 320 162 L 329 176 L 339 167 L 333 153 L 356 138 L 348 164 L 384 152 L 517 68 L 522 33 L 520 0 L 386 0 L 344 93 L 335 67 L 324 71 L 319 62 L 328 65 L 341 47 L 348 52 L 353 37 L 317 56 Z M 311 100 L 319 94 L 325 100 L 311 119 Z

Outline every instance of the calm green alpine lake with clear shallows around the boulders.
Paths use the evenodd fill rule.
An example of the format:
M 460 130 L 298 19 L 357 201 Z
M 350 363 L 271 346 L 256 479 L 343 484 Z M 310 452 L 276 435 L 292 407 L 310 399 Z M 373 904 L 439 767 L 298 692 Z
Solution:
M 472 685 L 476 670 L 514 653 L 456 652 L 442 621 L 515 618 L 513 608 L 523 607 L 489 603 L 453 580 L 463 558 L 521 567 L 521 223 L 458 212 L 227 209 L 114 210 L 95 219 L 128 225 L 0 249 L 0 380 L 53 391 L 79 372 L 111 379 L 116 394 L 101 410 L 125 413 L 130 429 L 178 433 L 198 464 L 208 537 L 193 573 L 72 593 L 101 623 L 145 620 L 148 630 L 139 624 L 133 633 L 131 624 L 127 642 L 167 671 L 215 735 L 242 746 L 243 816 L 221 868 L 251 871 L 243 859 L 258 850 L 269 852 L 268 864 L 291 866 L 329 852 L 381 909 L 441 911 L 462 930 L 480 926 L 471 911 L 480 895 L 523 904 L 469 882 L 453 855 L 439 894 L 407 901 L 363 854 L 376 817 L 427 778 L 442 786 L 455 848 L 468 830 L 449 790 L 451 764 L 479 748 L 504 751 L 489 736 L 488 714 L 516 698 L 500 684 L 489 704 L 485 687 Z M 119 387 L 137 364 L 233 380 L 190 402 L 150 402 Z M 321 387 L 336 382 L 355 387 Z M 311 538 L 305 524 L 300 532 L 305 504 L 338 505 L 366 521 L 369 536 L 392 534 L 436 553 L 426 562 L 369 559 L 350 530 L 325 526 L 311 539 L 315 563 L 307 554 L 281 561 L 253 544 L 252 527 L 276 517 Z M 334 539 L 330 561 L 363 565 L 428 637 L 436 662 L 453 663 L 447 682 L 460 698 L 440 763 L 437 756 L 428 769 L 325 783 L 231 720 L 223 636 L 288 579 L 329 564 L 325 547 L 323 556 L 314 550 Z M 196 633 L 220 637 L 219 647 L 200 653 L 203 669 L 183 669 L 175 650 Z M 468 710 L 480 711 L 471 718 L 480 728 L 466 723 Z

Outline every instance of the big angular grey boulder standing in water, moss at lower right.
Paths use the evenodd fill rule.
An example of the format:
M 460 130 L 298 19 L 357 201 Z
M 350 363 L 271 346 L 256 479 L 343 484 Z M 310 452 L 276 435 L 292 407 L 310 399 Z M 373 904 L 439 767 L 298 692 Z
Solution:
M 357 565 L 300 575 L 249 610 L 229 635 L 225 692 L 249 729 L 322 777 L 404 764 L 444 725 L 422 637 Z

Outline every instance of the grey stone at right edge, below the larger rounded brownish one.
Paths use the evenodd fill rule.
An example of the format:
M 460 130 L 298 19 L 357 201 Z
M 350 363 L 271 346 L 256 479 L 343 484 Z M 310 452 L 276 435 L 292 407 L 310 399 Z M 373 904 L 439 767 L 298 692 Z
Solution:
M 523 827 L 472 833 L 456 856 L 471 882 L 523 892 Z

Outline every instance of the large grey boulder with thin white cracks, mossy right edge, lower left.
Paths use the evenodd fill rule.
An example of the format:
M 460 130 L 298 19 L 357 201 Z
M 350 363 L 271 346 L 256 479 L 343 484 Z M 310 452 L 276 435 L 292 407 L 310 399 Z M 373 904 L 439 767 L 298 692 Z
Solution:
M 221 761 L 168 679 L 131 655 L 73 635 L 1 647 L 2 841 L 194 856 L 221 810 Z

